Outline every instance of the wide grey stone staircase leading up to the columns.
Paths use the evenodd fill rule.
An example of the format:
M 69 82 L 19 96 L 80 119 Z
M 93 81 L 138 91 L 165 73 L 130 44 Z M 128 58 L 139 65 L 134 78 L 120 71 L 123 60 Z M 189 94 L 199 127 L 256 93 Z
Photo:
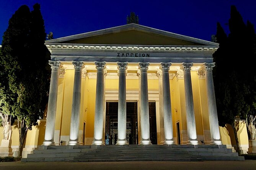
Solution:
M 244 160 L 225 145 L 41 146 L 21 162 Z

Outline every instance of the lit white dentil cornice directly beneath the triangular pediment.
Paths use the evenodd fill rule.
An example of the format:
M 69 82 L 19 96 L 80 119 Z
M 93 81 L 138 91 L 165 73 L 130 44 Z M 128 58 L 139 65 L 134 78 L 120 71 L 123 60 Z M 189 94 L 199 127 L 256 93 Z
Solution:
M 161 52 L 161 53 L 214 53 L 218 46 L 140 46 L 140 45 L 85 45 L 46 43 L 52 51 L 103 51 L 103 52 Z

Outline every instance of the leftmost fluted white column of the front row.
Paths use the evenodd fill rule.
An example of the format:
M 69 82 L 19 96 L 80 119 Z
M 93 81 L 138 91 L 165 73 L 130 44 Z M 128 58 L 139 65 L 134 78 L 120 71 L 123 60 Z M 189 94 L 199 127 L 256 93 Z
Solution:
M 60 61 L 49 61 L 51 65 L 52 74 L 49 90 L 49 100 L 47 107 L 46 129 L 44 135 L 44 142 L 42 145 L 54 145 L 54 129 L 55 129 L 55 116 L 57 107 L 58 95 L 58 79 Z

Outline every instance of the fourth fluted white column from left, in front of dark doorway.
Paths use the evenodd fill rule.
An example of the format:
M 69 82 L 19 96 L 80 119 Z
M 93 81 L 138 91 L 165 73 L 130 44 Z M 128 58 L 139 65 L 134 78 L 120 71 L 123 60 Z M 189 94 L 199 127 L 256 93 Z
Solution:
M 126 69 L 127 62 L 117 62 L 119 70 L 119 88 L 118 88 L 118 124 L 116 144 L 128 144 L 126 140 Z

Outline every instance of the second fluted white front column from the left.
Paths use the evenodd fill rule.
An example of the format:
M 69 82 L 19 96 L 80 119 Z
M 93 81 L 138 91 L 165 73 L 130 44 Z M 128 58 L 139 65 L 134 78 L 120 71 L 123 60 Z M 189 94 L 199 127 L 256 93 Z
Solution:
M 83 61 L 73 61 L 75 68 L 75 78 L 73 87 L 72 112 L 70 122 L 70 135 L 68 145 L 79 145 L 78 132 L 80 120 L 80 102 L 81 102 L 81 81 Z

